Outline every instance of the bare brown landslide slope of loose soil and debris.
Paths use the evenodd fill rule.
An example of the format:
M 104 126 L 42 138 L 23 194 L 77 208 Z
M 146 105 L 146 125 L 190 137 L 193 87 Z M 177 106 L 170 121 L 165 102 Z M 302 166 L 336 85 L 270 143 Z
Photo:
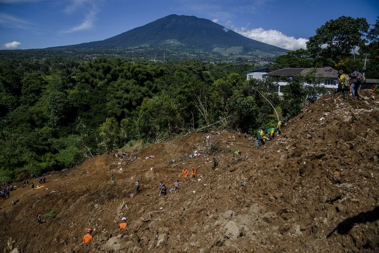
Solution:
M 361 95 L 363 100 L 349 103 L 341 96 L 322 97 L 258 150 L 250 137 L 213 131 L 94 157 L 67 175 L 49 175 L 41 189 L 18 189 L 0 200 L 0 247 L 4 252 L 375 252 L 379 95 Z M 195 150 L 205 157 L 185 158 Z M 242 151 L 236 159 L 234 150 Z M 219 162 L 215 171 L 213 156 Z M 183 167 L 197 167 L 197 178 L 183 181 Z M 141 191 L 131 195 L 136 179 Z M 177 179 L 177 191 L 158 195 L 159 181 L 171 188 Z M 20 201 L 13 206 L 15 197 Z M 57 214 L 36 225 L 33 214 L 52 209 Z M 123 216 L 129 230 L 121 233 L 115 228 Z M 94 241 L 78 246 L 87 227 L 94 229 Z

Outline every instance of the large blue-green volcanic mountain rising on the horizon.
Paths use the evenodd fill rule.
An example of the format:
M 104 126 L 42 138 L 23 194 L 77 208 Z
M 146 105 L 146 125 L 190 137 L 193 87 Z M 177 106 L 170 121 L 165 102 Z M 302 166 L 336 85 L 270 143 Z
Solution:
M 160 53 L 166 52 L 167 57 L 186 54 L 187 58 L 191 58 L 194 54 L 206 54 L 208 57 L 234 55 L 256 59 L 272 58 L 288 51 L 242 36 L 208 19 L 184 15 L 169 15 L 101 41 L 48 50 L 59 49 L 125 51 L 129 55 L 133 51 L 145 55 L 147 51 L 158 50 Z

